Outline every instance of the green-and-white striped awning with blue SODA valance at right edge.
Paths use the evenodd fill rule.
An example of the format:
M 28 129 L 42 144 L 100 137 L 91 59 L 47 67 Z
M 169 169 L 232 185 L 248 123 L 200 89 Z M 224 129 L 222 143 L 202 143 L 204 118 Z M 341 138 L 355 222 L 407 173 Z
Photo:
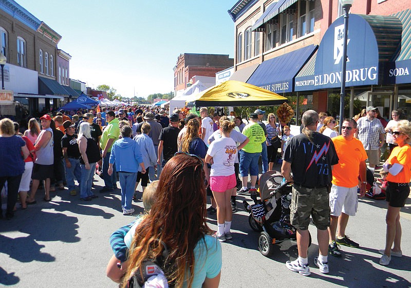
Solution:
M 398 49 L 395 59 L 385 65 L 383 84 L 411 83 L 411 9 L 393 16 L 402 23 L 401 49 Z

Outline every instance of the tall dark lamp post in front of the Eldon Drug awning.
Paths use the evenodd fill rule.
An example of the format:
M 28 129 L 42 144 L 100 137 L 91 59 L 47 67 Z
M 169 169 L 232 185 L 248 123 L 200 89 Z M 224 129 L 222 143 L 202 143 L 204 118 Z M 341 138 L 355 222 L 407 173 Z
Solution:
M 343 45 L 343 63 L 341 69 L 341 93 L 340 93 L 340 135 L 341 127 L 344 121 L 344 98 L 345 98 L 345 73 L 347 69 L 347 36 L 348 36 L 348 12 L 354 0 L 340 0 L 341 6 L 344 9 L 344 45 Z

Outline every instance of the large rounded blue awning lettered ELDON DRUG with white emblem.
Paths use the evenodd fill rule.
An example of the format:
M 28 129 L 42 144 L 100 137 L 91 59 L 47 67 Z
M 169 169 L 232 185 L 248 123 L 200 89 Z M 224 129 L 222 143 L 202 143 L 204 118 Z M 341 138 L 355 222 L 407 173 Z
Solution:
M 382 83 L 380 67 L 395 55 L 402 24 L 394 16 L 350 14 L 348 22 L 346 86 Z M 294 91 L 341 87 L 344 17 L 324 33 L 315 56 L 295 77 Z

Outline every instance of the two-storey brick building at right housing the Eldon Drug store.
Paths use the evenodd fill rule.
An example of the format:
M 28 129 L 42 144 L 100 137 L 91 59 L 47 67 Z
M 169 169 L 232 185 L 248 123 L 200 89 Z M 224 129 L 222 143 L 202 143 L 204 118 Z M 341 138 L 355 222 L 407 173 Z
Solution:
M 390 111 L 397 107 L 411 110 L 407 103 L 411 100 L 411 87 L 408 86 L 411 78 L 400 75 L 404 77 L 393 79 L 389 72 L 392 70 L 390 68 L 398 66 L 398 61 L 402 61 L 400 64 L 404 69 L 411 69 L 411 62 L 408 63 L 411 59 L 411 52 L 408 51 L 411 31 L 409 9 L 409 1 L 354 0 L 350 13 L 359 14 L 361 18 L 350 17 L 350 25 L 358 22 L 359 27 L 348 29 L 348 39 L 359 32 L 356 30 L 370 31 L 374 45 L 372 49 L 377 49 L 377 64 L 372 67 L 376 67 L 378 75 L 372 84 L 369 84 L 370 81 L 346 81 L 346 104 L 349 103 L 345 107 L 346 116 L 352 117 L 362 107 L 371 104 L 381 107 L 385 118 L 389 118 Z M 335 42 L 328 40 L 333 37 L 334 32 L 331 30 L 343 21 L 343 11 L 338 0 L 239 0 L 228 12 L 234 22 L 235 36 L 235 72 L 232 80 L 285 95 L 298 108 L 298 114 L 307 109 L 329 111 L 333 116 L 339 113 L 338 86 L 341 83 L 338 84 L 336 80 L 328 86 L 302 85 L 310 76 L 318 76 L 321 61 L 326 66 L 323 50 L 332 49 L 329 44 L 326 47 L 326 43 L 335 46 Z M 353 43 L 348 45 L 348 57 L 360 52 L 351 50 L 354 49 Z M 363 39 L 356 44 L 358 47 L 355 49 L 365 45 L 368 43 Z M 324 59 L 319 59 L 319 54 L 324 55 Z M 368 55 L 365 53 L 364 56 Z M 332 62 L 334 60 L 331 58 Z M 354 64 L 353 61 L 348 63 L 348 66 Z M 341 64 L 337 64 L 335 67 L 339 66 L 341 71 Z M 365 71 L 366 67 L 357 68 Z M 296 87 L 296 81 L 301 85 Z M 299 99 L 298 102 L 295 99 Z M 410 117 L 411 111 L 407 114 Z

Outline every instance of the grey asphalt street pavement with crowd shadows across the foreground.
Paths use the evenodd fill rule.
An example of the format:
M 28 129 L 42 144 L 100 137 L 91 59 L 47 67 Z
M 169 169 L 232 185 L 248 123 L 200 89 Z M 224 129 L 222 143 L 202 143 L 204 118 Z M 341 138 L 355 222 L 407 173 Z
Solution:
M 107 261 L 113 255 L 109 236 L 134 217 L 122 215 L 120 189 L 100 194 L 103 181 L 98 176 L 95 180 L 94 192 L 99 196 L 95 200 L 83 202 L 79 196 L 69 196 L 68 190 L 57 190 L 51 193 L 51 202 L 44 202 L 39 190 L 37 204 L 26 210 L 18 205 L 14 219 L 0 220 L 0 286 L 118 286 L 105 275 Z M 385 243 L 386 203 L 363 198 L 346 231 L 360 248 L 341 246 L 342 258 L 329 256 L 328 275 L 321 274 L 313 264 L 318 246 L 315 227 L 310 225 L 309 277 L 285 266 L 287 260 L 297 257 L 294 241 L 275 244 L 270 258 L 259 253 L 259 233 L 248 224 L 248 213 L 241 204 L 244 199 L 250 200 L 237 197 L 233 240 L 221 243 L 220 287 L 411 287 L 411 199 L 401 213 L 402 258 L 393 257 L 389 266 L 379 264 L 378 249 Z M 142 212 L 142 203 L 134 203 L 134 208 L 136 213 Z M 216 229 L 216 216 L 209 216 L 208 223 Z

